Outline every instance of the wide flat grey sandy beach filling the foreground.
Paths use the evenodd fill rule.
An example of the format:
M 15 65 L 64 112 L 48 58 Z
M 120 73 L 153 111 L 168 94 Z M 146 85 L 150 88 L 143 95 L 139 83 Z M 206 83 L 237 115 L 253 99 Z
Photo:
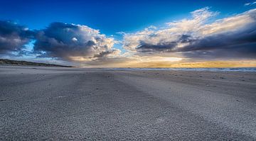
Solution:
M 0 66 L 0 140 L 256 140 L 256 73 Z

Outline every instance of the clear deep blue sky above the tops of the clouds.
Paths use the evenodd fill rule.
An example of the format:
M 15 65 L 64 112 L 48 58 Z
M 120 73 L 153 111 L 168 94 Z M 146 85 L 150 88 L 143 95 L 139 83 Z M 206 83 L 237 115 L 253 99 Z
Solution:
M 52 22 L 75 23 L 100 29 L 106 35 L 132 32 L 188 16 L 196 9 L 210 6 L 220 16 L 230 16 L 250 9 L 250 1 L 1 1 L 1 20 L 17 21 L 31 29 L 41 29 Z

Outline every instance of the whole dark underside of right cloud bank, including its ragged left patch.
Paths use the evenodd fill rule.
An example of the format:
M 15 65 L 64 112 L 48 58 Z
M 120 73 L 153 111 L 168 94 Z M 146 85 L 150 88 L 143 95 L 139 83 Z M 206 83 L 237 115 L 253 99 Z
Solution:
M 185 44 L 177 47 L 178 44 Z M 187 57 L 244 57 L 256 58 L 256 23 L 230 33 L 220 33 L 204 38 L 181 35 L 169 43 L 151 45 L 140 42 L 138 52 L 183 52 Z

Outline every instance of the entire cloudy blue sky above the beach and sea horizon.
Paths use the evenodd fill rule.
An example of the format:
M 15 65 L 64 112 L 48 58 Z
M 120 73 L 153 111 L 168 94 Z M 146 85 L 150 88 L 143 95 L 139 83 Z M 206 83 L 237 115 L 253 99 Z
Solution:
M 0 57 L 78 67 L 256 67 L 256 1 L 0 1 Z

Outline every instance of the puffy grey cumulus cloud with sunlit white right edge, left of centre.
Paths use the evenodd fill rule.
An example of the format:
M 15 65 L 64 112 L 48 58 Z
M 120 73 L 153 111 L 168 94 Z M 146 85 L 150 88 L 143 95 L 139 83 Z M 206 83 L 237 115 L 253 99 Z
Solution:
M 114 55 L 114 38 L 107 38 L 99 30 L 68 23 L 51 23 L 36 33 L 34 51 L 43 57 L 62 60 L 93 60 Z

